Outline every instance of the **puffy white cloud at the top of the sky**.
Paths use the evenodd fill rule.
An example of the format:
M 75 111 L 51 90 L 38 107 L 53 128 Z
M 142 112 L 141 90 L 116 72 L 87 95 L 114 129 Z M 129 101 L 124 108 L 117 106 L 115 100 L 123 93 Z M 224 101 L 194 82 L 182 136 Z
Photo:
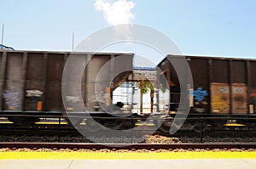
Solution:
M 131 9 L 135 3 L 126 0 L 96 0 L 96 10 L 102 11 L 109 25 L 131 24 L 135 16 Z

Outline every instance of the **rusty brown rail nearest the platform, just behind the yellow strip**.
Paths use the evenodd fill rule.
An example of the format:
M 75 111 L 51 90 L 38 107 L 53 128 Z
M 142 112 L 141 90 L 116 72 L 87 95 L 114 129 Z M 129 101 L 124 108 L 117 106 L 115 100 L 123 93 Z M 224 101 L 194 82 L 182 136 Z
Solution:
M 1 143 L 0 149 L 256 149 L 256 144 L 61 144 L 61 143 Z

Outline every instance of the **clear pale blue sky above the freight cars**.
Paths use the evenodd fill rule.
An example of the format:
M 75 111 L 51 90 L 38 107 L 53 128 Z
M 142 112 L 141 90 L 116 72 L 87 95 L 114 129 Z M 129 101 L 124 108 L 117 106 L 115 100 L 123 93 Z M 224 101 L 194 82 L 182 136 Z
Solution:
M 98 0 L 112 4 L 113 0 Z M 125 1 L 125 0 L 124 0 Z M 170 37 L 183 54 L 256 57 L 254 0 L 126 0 L 131 23 Z M 110 25 L 95 0 L 1 0 L 3 44 L 19 50 L 65 50 Z M 2 26 L 1 26 L 2 27 Z

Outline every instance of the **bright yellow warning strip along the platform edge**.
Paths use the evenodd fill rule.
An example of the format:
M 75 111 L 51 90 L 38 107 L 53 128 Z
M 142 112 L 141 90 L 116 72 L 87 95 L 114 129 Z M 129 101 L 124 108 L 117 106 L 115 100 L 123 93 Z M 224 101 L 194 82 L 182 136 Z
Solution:
M 256 152 L 163 152 L 163 153 L 92 153 L 92 152 L 0 152 L 0 160 L 189 160 L 256 159 Z

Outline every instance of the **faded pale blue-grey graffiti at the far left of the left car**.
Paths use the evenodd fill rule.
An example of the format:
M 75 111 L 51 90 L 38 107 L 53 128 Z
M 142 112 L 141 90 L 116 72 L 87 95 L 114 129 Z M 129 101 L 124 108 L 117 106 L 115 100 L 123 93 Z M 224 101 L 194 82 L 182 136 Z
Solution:
M 20 106 L 19 92 L 5 90 L 3 91 L 3 99 L 9 110 L 15 110 L 15 108 Z

